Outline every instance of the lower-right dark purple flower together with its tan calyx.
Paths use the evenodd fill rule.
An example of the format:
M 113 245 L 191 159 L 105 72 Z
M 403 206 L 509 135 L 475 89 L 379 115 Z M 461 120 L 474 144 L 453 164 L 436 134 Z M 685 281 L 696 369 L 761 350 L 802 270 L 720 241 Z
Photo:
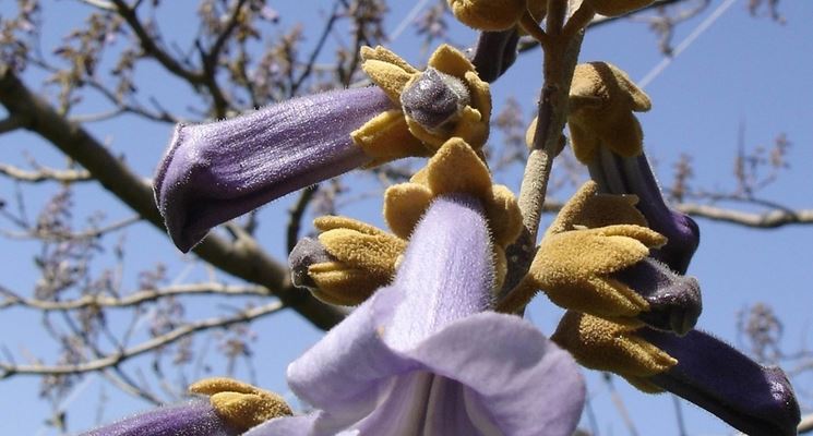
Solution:
M 584 366 L 647 391 L 668 390 L 751 436 L 791 436 L 799 404 L 785 373 L 700 330 L 679 337 L 641 323 L 567 312 L 552 339 Z

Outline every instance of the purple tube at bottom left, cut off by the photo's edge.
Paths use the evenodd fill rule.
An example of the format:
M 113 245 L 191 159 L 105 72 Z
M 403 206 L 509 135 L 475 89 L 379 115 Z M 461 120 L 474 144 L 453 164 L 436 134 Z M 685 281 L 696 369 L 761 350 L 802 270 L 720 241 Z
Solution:
M 237 436 L 241 433 L 219 417 L 208 401 L 199 399 L 125 417 L 80 436 Z

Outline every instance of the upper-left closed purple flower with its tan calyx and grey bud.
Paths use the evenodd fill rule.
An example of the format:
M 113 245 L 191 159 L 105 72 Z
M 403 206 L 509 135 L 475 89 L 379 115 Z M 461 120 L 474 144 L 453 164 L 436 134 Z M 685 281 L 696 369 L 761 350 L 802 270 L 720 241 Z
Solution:
M 379 87 L 176 128 L 154 191 L 181 251 L 214 226 L 354 168 L 431 156 L 452 136 L 478 148 L 486 142 L 489 87 L 459 51 L 442 46 L 426 72 L 381 47 L 366 47 L 361 57 Z

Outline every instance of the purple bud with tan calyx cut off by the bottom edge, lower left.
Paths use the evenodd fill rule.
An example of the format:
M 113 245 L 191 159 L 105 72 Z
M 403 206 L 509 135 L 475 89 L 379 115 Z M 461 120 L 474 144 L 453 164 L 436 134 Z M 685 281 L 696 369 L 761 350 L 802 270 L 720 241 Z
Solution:
M 208 396 L 154 409 L 82 436 L 237 436 L 274 417 L 290 415 L 276 393 L 230 378 L 206 378 L 190 392 Z

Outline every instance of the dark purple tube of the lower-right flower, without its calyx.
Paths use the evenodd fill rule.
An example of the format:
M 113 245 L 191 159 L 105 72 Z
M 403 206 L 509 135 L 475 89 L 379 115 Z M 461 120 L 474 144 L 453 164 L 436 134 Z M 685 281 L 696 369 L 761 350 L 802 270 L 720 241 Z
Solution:
M 799 403 L 785 373 L 762 366 L 698 330 L 684 337 L 643 328 L 637 335 L 678 360 L 648 382 L 685 398 L 751 436 L 792 436 Z

